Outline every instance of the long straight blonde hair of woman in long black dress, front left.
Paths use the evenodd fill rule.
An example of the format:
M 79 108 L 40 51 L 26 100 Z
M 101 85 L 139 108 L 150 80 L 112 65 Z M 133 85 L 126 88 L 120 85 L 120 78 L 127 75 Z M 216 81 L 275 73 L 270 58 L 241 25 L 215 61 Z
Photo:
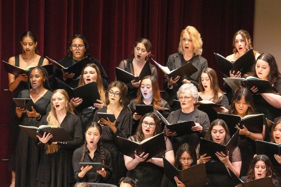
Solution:
M 68 97 L 67 92 L 64 89 L 54 90 L 52 93 L 51 101 L 53 99 L 54 94 L 56 94 L 56 93 L 60 93 L 64 96 L 64 99 L 66 100 L 66 104 L 65 104 L 66 113 L 69 113 L 69 112 L 73 113 L 73 108 L 71 107 L 71 105 L 69 103 L 69 97 Z M 49 112 L 49 114 L 47 116 L 47 123 L 48 123 L 48 125 L 51 125 L 51 126 L 60 126 L 60 123 L 57 119 L 56 109 L 53 104 L 51 104 L 51 111 Z M 47 154 L 52 154 L 52 153 L 55 153 L 58 151 L 59 151 L 59 145 L 55 145 L 55 144 L 45 145 L 45 152 Z

